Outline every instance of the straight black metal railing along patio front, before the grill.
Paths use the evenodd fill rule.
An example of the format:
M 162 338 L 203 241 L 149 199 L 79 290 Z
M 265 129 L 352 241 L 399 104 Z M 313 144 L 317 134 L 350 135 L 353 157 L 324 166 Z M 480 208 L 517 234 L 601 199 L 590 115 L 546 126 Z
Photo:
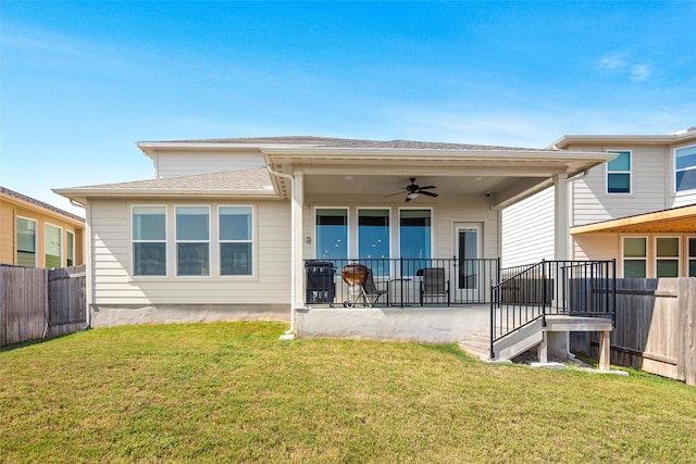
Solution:
M 374 286 L 360 281 L 362 265 Z M 306 305 L 449 306 L 487 304 L 500 260 L 304 260 Z M 356 278 L 353 278 L 356 277 Z

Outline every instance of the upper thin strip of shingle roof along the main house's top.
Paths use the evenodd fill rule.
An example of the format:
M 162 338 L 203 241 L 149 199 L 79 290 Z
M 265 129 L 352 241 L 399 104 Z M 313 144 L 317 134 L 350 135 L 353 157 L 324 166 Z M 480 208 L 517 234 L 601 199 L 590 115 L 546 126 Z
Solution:
M 225 139 L 165 140 L 166 143 L 249 143 L 297 145 L 324 148 L 390 148 L 420 150 L 535 150 L 530 148 L 497 147 L 469 143 L 447 143 L 415 140 L 360 140 L 314 136 L 243 137 Z

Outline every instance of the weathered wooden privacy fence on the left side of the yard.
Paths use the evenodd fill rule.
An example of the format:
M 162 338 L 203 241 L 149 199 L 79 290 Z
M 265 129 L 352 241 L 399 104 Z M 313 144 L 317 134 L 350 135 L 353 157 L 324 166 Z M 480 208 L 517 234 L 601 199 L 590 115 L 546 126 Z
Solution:
M 85 266 L 0 266 L 0 346 L 72 334 L 86 323 Z

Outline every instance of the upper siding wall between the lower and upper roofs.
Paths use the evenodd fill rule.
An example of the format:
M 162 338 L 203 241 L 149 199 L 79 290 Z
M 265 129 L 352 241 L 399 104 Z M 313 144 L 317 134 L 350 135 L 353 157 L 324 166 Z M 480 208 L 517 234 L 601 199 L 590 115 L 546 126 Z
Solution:
M 154 175 L 158 178 L 222 173 L 265 166 L 263 155 L 258 151 L 158 153 L 153 163 Z

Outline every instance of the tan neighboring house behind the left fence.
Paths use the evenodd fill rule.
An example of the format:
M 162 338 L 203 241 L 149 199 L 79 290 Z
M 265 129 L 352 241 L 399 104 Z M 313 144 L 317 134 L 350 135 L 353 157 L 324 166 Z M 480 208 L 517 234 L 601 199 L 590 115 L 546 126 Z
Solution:
M 0 264 L 65 267 L 85 263 L 85 220 L 0 187 Z

